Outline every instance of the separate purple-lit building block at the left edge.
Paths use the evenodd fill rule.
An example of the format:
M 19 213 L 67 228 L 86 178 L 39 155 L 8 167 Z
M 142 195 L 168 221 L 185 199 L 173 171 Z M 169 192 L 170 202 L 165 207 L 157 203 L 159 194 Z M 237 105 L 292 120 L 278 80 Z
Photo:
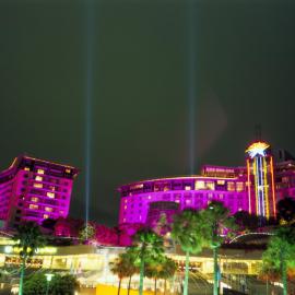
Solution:
M 78 170 L 30 156 L 16 157 L 0 173 L 0 220 L 5 227 L 21 221 L 40 224 L 46 219 L 67 217 L 73 179 Z

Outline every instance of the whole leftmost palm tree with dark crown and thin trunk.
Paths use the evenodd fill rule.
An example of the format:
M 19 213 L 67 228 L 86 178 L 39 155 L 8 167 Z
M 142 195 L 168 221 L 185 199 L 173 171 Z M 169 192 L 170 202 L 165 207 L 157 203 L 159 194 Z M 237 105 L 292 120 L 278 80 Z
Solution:
M 39 226 L 34 222 L 25 222 L 19 225 L 17 233 L 13 237 L 16 246 L 20 248 L 21 276 L 19 295 L 23 295 L 23 282 L 26 261 L 35 255 L 37 248 L 45 245 L 45 237 L 40 233 Z

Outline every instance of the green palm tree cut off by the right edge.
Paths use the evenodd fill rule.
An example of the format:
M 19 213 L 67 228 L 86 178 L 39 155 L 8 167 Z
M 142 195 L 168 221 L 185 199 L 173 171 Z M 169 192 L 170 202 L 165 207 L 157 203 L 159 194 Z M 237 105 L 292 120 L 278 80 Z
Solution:
M 281 278 L 283 294 L 287 295 L 287 270 L 295 268 L 295 227 L 281 226 L 270 239 L 262 256 L 262 273 L 268 278 Z

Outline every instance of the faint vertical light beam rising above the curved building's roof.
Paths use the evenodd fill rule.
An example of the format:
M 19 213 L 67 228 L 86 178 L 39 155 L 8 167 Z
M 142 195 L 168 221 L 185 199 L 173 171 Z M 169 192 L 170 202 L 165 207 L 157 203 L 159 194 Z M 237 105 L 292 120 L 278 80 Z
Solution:
M 196 166 L 196 5 L 194 0 L 187 0 L 188 30 L 188 148 L 189 173 L 194 174 Z

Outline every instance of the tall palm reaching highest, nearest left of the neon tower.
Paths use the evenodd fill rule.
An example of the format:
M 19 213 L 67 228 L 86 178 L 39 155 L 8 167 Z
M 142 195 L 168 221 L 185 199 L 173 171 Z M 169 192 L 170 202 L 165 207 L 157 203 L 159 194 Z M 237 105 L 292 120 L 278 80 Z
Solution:
M 206 240 L 206 244 L 213 250 L 213 294 L 219 294 L 219 248 L 222 243 L 233 235 L 233 232 L 236 229 L 235 219 L 231 216 L 229 210 L 223 205 L 222 202 L 212 201 L 205 210 L 201 212 L 203 219 L 203 238 Z

